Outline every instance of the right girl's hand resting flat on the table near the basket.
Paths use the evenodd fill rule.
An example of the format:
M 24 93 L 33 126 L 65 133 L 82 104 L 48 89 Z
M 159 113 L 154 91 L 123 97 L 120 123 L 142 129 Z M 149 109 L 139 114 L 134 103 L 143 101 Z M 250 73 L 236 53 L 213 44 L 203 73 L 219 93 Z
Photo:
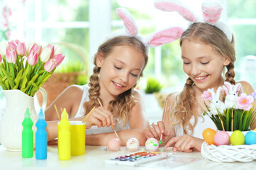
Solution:
M 203 142 L 204 140 L 197 137 L 182 135 L 179 137 L 172 137 L 172 139 L 166 143 L 165 148 L 174 145 L 172 148 L 173 151 L 193 152 L 193 150 L 196 150 L 200 152 Z

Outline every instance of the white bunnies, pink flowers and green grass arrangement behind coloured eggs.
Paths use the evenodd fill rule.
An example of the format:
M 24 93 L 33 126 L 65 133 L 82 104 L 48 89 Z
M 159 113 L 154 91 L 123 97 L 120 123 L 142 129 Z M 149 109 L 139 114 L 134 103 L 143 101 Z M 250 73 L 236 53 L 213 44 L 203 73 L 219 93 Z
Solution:
M 250 130 L 255 123 L 256 113 L 252 106 L 255 96 L 255 92 L 247 95 L 241 84 L 232 85 L 225 81 L 224 86 L 218 87 L 216 93 L 213 89 L 208 89 L 202 94 L 204 101 L 211 102 L 210 106 L 206 105 L 204 115 L 210 116 L 218 130 Z

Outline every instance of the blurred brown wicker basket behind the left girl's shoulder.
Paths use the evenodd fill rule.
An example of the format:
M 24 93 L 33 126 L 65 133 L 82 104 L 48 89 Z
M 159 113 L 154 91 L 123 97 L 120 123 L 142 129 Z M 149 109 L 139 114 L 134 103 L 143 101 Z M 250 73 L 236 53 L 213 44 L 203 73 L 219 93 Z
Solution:
M 47 107 L 50 106 L 52 101 L 59 96 L 68 86 L 77 84 L 77 79 L 81 72 L 73 73 L 53 73 L 51 77 L 43 84 L 43 89 L 47 92 L 48 101 Z M 43 97 L 40 93 L 37 93 L 38 102 L 42 105 Z

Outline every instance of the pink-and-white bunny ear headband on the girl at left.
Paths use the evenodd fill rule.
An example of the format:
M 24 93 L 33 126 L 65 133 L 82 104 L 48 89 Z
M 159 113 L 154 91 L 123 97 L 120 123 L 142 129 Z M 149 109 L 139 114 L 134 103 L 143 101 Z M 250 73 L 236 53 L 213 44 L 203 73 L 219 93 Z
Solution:
M 157 30 L 150 35 L 143 37 L 138 34 L 138 26 L 126 8 L 117 8 L 116 13 L 123 20 L 124 30 L 114 31 L 108 35 L 107 40 L 123 35 L 137 38 L 143 42 L 146 47 L 157 47 L 179 39 L 184 32 L 182 28 L 172 27 L 165 28 L 164 30 Z

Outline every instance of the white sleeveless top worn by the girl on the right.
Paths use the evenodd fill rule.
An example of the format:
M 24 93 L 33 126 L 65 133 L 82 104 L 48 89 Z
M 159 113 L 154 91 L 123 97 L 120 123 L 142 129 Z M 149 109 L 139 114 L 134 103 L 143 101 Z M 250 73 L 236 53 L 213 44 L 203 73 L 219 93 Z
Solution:
M 217 131 L 216 125 L 213 123 L 213 120 L 211 120 L 211 118 L 208 115 L 202 115 L 202 116 L 203 118 L 199 117 L 197 120 L 196 126 L 194 128 L 194 133 L 193 134 L 191 134 L 191 132 L 188 133 L 189 135 L 198 137 L 200 139 L 203 139 L 202 134 L 206 128 L 211 128 Z M 194 116 L 192 116 L 190 123 L 194 123 Z M 176 136 L 184 135 L 182 125 L 180 124 L 175 125 L 174 129 L 175 129 Z

